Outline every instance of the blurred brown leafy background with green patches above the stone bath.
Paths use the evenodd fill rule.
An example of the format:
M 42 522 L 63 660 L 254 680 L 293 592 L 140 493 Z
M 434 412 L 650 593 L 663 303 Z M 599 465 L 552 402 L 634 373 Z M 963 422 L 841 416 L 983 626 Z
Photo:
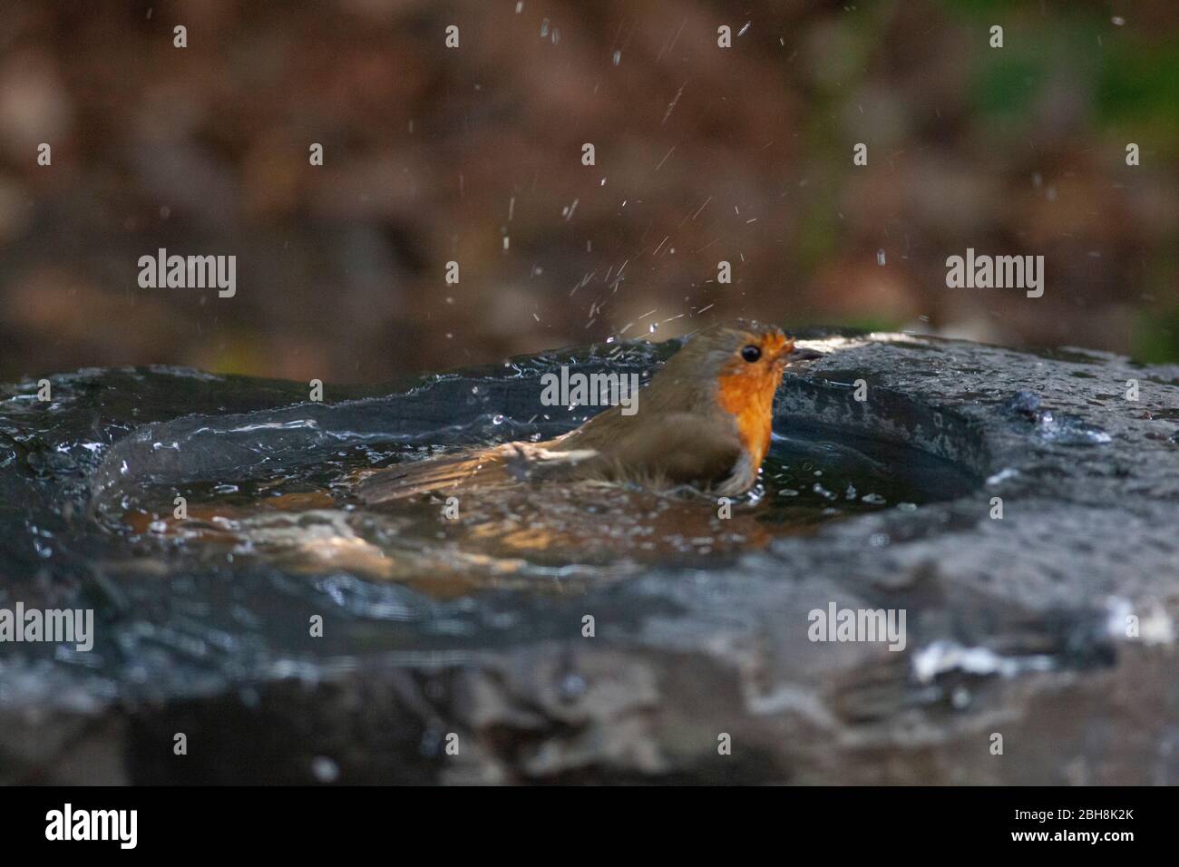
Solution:
M 1179 357 L 1174 0 L 5 0 L 0 19 L 5 381 L 371 382 L 737 315 Z M 1043 297 L 948 289 L 968 247 L 1043 255 Z M 140 289 L 158 248 L 237 256 L 236 297 Z

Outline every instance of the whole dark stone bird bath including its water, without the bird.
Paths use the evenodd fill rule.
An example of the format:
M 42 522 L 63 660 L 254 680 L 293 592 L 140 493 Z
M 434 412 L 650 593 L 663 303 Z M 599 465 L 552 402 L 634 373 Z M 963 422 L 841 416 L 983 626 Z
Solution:
M 646 377 L 668 346 L 323 402 L 171 368 L 5 389 L 0 607 L 91 609 L 95 636 L 0 643 L 0 781 L 1175 782 L 1179 369 L 799 336 L 828 355 L 788 374 L 730 517 L 595 484 L 455 517 L 353 494 L 567 431 L 544 372 Z M 812 641 L 831 605 L 903 609 L 905 648 Z

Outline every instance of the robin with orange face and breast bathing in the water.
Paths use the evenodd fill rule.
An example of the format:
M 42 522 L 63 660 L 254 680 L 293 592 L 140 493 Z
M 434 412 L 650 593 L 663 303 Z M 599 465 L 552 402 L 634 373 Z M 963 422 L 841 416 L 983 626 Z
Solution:
M 693 335 L 639 393 L 638 412 L 612 406 L 545 442 L 508 442 L 402 464 L 364 479 L 382 503 L 512 480 L 608 480 L 716 495 L 747 491 L 770 448 L 773 393 L 796 350 L 773 326 L 739 320 Z

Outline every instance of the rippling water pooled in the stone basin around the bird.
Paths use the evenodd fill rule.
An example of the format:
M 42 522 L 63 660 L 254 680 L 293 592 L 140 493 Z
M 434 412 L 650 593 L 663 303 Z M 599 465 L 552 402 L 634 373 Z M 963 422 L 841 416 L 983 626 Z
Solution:
M 814 426 L 776 435 L 760 484 L 730 501 L 687 490 L 513 481 L 367 506 L 355 495 L 365 473 L 437 449 L 334 444 L 301 449 L 290 465 L 266 445 L 266 431 L 258 428 L 253 448 L 268 453 L 268 472 L 137 486 L 106 510 L 108 528 L 145 563 L 262 559 L 292 573 L 344 572 L 449 597 L 486 586 L 571 590 L 652 565 L 706 567 L 824 521 L 970 488 L 959 468 L 918 449 Z

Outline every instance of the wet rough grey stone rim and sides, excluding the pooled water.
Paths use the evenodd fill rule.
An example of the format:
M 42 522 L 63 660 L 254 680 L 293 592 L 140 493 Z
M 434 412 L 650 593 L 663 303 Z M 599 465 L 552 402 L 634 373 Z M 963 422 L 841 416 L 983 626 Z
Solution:
M 95 383 L 110 373 L 55 380 L 67 398 L 53 425 L 21 398 L 32 386 L 8 389 L 0 554 L 15 577 L 0 604 L 85 600 L 106 612 L 116 646 L 131 646 L 132 630 L 143 639 L 146 610 L 169 613 L 150 655 L 114 664 L 107 650 L 97 671 L 0 644 L 0 781 L 1179 783 L 1179 368 L 1089 350 L 810 336 L 828 355 L 788 379 L 777 429 L 903 441 L 967 468 L 977 490 L 824 524 L 716 569 L 654 567 L 580 593 L 441 605 L 394 589 L 402 613 L 373 628 L 395 632 L 395 650 L 298 653 L 263 625 L 209 651 L 204 668 L 185 659 L 174 678 L 184 631 L 159 624 L 174 623 L 176 600 L 117 566 L 95 570 L 101 534 L 50 501 L 93 511 L 129 477 L 212 477 L 256 453 L 233 435 L 152 448 L 206 419 L 159 400 L 104 410 Z M 310 408 L 284 408 L 295 389 L 245 383 L 222 418 L 274 425 L 281 449 L 419 436 L 459 416 L 474 425 L 492 406 L 534 415 L 533 373 L 459 372 Z M 224 390 L 192 374 L 153 376 L 193 395 Z M 864 402 L 854 399 L 861 379 Z M 1131 380 L 1138 401 L 1125 396 Z M 486 386 L 476 406 L 472 381 Z M 317 426 L 276 423 L 309 415 Z M 80 449 L 79 429 L 99 447 Z M 42 513 L 39 526 L 59 537 L 48 557 L 35 533 L 14 530 Z M 268 576 L 235 595 L 210 578 L 196 597 L 265 624 L 297 580 Z M 905 649 L 809 641 L 808 612 L 830 603 L 904 609 Z M 579 631 L 584 613 L 598 623 L 592 639 Z M 177 731 L 187 756 L 172 754 Z M 450 733 L 457 755 L 444 749 Z M 723 734 L 731 755 L 718 753 Z

